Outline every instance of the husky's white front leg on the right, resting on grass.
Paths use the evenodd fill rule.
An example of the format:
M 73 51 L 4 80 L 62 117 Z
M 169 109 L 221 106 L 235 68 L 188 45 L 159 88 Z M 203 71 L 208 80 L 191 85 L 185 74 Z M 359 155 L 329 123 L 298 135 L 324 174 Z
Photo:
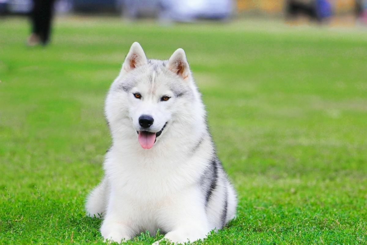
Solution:
M 197 188 L 190 188 L 163 203 L 159 223 L 168 231 L 163 239 L 184 243 L 206 238 L 210 227 L 201 195 Z

